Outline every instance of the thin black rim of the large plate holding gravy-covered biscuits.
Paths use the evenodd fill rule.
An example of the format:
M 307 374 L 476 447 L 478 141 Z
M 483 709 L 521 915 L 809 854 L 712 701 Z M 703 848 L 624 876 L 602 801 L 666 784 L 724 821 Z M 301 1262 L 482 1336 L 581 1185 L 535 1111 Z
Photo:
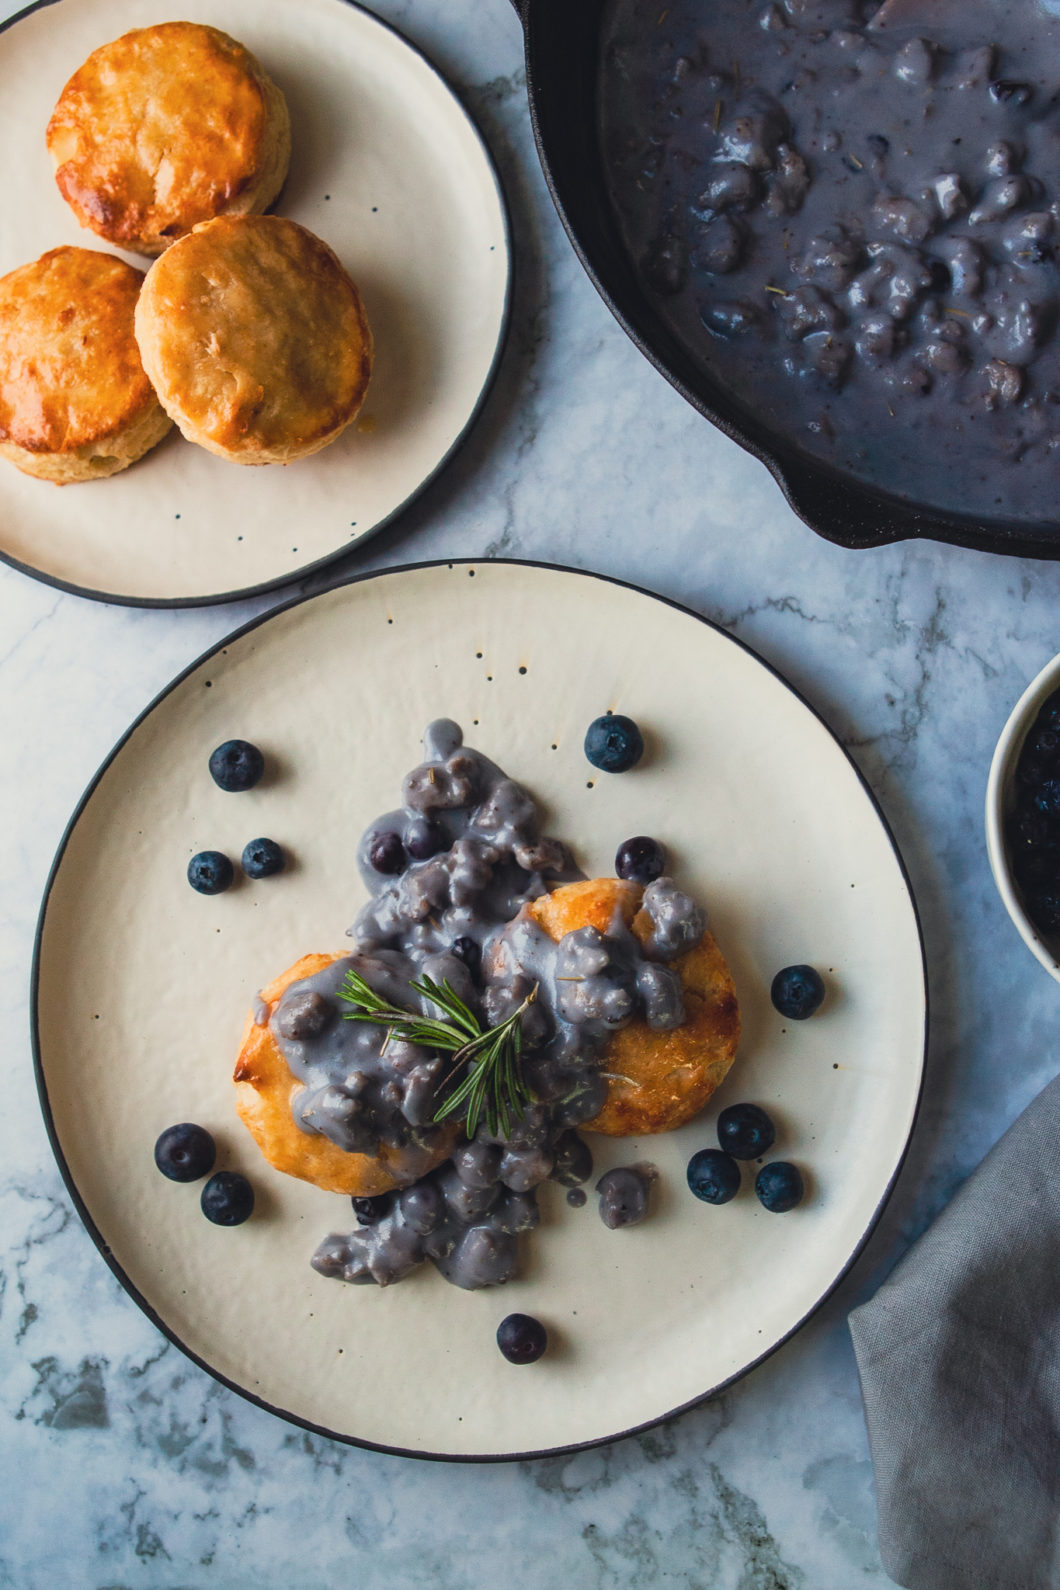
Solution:
M 159 706 L 159 703 L 164 701 L 165 696 L 170 695 L 170 692 L 173 692 L 178 685 L 181 685 L 184 682 L 184 679 L 188 679 L 199 668 L 202 668 L 202 665 L 207 663 L 211 657 L 218 655 L 226 646 L 230 646 L 232 642 L 242 639 L 245 634 L 250 634 L 253 630 L 257 630 L 261 625 L 267 623 L 270 619 L 275 619 L 278 614 L 288 612 L 291 607 L 297 607 L 302 603 L 316 601 L 318 598 L 327 596 L 331 591 L 340 590 L 345 585 L 359 585 L 364 580 L 386 579 L 386 577 L 389 577 L 393 574 L 408 574 L 408 572 L 418 571 L 418 569 L 439 569 L 439 568 L 443 568 L 443 569 L 453 569 L 453 568 L 469 568 L 469 569 L 474 569 L 474 568 L 477 568 L 477 566 L 480 566 L 483 563 L 491 563 L 491 564 L 496 563 L 496 564 L 504 564 L 507 568 L 551 569 L 551 571 L 555 571 L 558 574 L 575 574 L 575 576 L 580 576 L 582 579 L 601 580 L 605 585 L 617 585 L 621 590 L 634 591 L 639 596 L 647 596 L 650 601 L 664 603 L 667 607 L 672 607 L 675 612 L 680 612 L 680 614 L 683 614 L 688 619 L 694 619 L 698 623 L 707 625 L 710 630 L 715 630 L 718 634 L 723 634 L 726 641 L 731 641 L 733 644 L 742 647 L 744 652 L 747 652 L 750 657 L 755 658 L 756 663 L 760 663 L 764 669 L 768 669 L 768 673 L 771 673 L 772 677 L 780 685 L 783 685 L 783 688 L 788 690 L 796 698 L 796 701 L 799 701 L 807 709 L 807 712 L 810 712 L 817 719 L 817 722 L 830 735 L 830 738 L 834 741 L 834 744 L 839 747 L 839 750 L 844 754 L 844 757 L 850 763 L 850 768 L 853 770 L 853 773 L 855 773 L 855 776 L 857 776 L 861 789 L 865 790 L 869 803 L 872 805 L 872 809 L 876 811 L 876 817 L 877 817 L 877 820 L 879 820 L 879 824 L 880 824 L 880 827 L 882 827 L 887 840 L 890 841 L 890 847 L 893 851 L 895 860 L 898 862 L 898 870 L 901 873 L 903 882 L 906 886 L 906 892 L 909 895 L 909 903 L 912 906 L 914 924 L 915 924 L 915 929 L 917 929 L 917 940 L 919 940 L 919 944 L 920 944 L 920 967 L 922 967 L 922 975 L 923 975 L 923 1048 L 922 1048 L 922 1057 L 920 1057 L 920 1084 L 919 1084 L 919 1089 L 917 1089 L 917 1099 L 915 1099 L 915 1103 L 914 1103 L 914 1110 L 912 1110 L 912 1118 L 911 1118 L 911 1123 L 909 1123 L 909 1132 L 907 1132 L 907 1137 L 906 1137 L 906 1143 L 904 1143 L 904 1146 L 901 1150 L 901 1154 L 898 1156 L 898 1162 L 895 1164 L 895 1170 L 893 1170 L 890 1180 L 887 1181 L 887 1186 L 884 1188 L 884 1192 L 880 1194 L 880 1199 L 879 1199 L 876 1208 L 872 1210 L 872 1215 L 869 1216 L 869 1221 L 868 1221 L 868 1224 L 866 1224 L 861 1237 L 855 1242 L 855 1245 L 853 1245 L 853 1248 L 852 1248 L 852 1251 L 850 1251 L 845 1264 L 836 1274 L 834 1280 L 825 1288 L 825 1291 L 822 1293 L 822 1296 L 814 1302 L 814 1305 L 810 1309 L 807 1309 L 807 1312 L 791 1326 L 791 1329 L 785 1336 L 782 1336 L 780 1340 L 774 1342 L 772 1347 L 769 1347 L 764 1353 L 760 1353 L 758 1358 L 752 1359 L 749 1364 L 745 1364 L 736 1374 L 729 1375 L 725 1380 L 720 1380 L 714 1386 L 709 1386 L 706 1391 L 702 1391 L 699 1396 L 691 1398 L 688 1402 L 682 1402 L 677 1407 L 667 1409 L 664 1414 L 660 1414 L 656 1418 L 645 1420 L 640 1425 L 633 1425 L 628 1429 L 613 1431 L 609 1436 L 598 1436 L 598 1437 L 593 1437 L 591 1441 L 571 1442 L 571 1444 L 561 1445 L 561 1447 L 545 1447 L 545 1448 L 534 1450 L 534 1452 L 489 1452 L 489 1453 L 415 1452 L 415 1450 L 405 1448 L 405 1447 L 389 1447 L 389 1445 L 385 1445 L 381 1442 L 367 1441 L 364 1437 L 340 1434 L 340 1433 L 337 1433 L 334 1429 L 327 1429 L 323 1425 L 315 1425 L 310 1420 L 299 1418 L 299 1415 L 291 1414 L 286 1409 L 275 1407 L 272 1402 L 265 1401 L 264 1398 L 256 1396 L 246 1386 L 238 1385 L 235 1380 L 230 1380 L 226 1375 L 222 1375 L 219 1371 L 213 1369 L 208 1363 L 205 1363 L 205 1359 L 199 1358 L 197 1353 L 194 1353 L 189 1347 L 186 1347 L 184 1342 L 180 1339 L 180 1336 L 162 1321 L 162 1318 L 154 1312 L 154 1309 L 146 1301 L 146 1297 L 143 1297 L 140 1294 L 140 1291 L 133 1286 L 133 1283 L 130 1282 L 130 1278 L 126 1275 L 126 1272 L 121 1269 L 121 1266 L 114 1259 L 114 1255 L 111 1253 L 110 1247 L 106 1245 L 102 1232 L 99 1231 L 99 1227 L 92 1221 L 92 1216 L 89 1215 L 87 1207 L 84 1205 L 84 1202 L 81 1199 L 81 1194 L 79 1194 L 79 1191 L 76 1188 L 76 1183 L 73 1180 L 70 1167 L 67 1165 L 67 1159 L 64 1156 L 62 1145 L 59 1142 L 59 1135 L 57 1135 L 57 1130 L 56 1130 L 56 1123 L 54 1123 L 52 1111 L 51 1111 L 51 1103 L 49 1103 L 49 1099 L 48 1099 L 48 1086 L 46 1086 L 46 1080 L 44 1080 L 44 1062 L 43 1062 L 43 1056 L 41 1056 L 40 1014 L 38 1014 L 40 970 L 41 970 L 43 935 L 44 935 L 44 921 L 46 921 L 46 914 L 48 914 L 48 902 L 51 898 L 51 890 L 52 890 L 52 886 L 54 886 L 56 878 L 59 874 L 59 868 L 62 865 L 62 860 L 64 860 L 64 855 L 65 855 L 65 851 L 67 851 L 67 844 L 70 843 L 73 830 L 78 825 L 78 822 L 81 819 L 81 814 L 84 812 L 87 803 L 91 801 L 91 798 L 92 798 L 92 795 L 94 795 L 94 792 L 95 792 L 100 779 L 103 778 L 103 774 L 106 773 L 106 770 L 110 768 L 111 762 L 119 754 L 119 750 L 122 749 L 122 746 L 126 744 L 126 741 L 130 739 L 130 736 L 151 716 L 151 712 L 154 711 L 154 708 Z M 683 603 L 674 601 L 669 596 L 661 596 L 658 591 L 650 591 L 650 590 L 647 590 L 642 585 L 634 585 L 631 580 L 621 580 L 621 579 L 617 579 L 617 577 L 613 577 L 610 574 L 598 574 L 593 569 L 577 569 L 577 568 L 571 568 L 569 564 L 545 563 L 545 561 L 532 560 L 532 558 L 434 558 L 434 560 L 431 560 L 427 563 L 402 563 L 402 564 L 396 564 L 394 568 L 388 568 L 388 569 L 372 569 L 372 571 L 366 571 L 366 572 L 361 572 L 361 574 L 353 574 L 353 576 L 350 576 L 345 580 L 335 582 L 335 585 L 331 585 L 331 587 L 327 587 L 323 591 L 313 591 L 310 595 L 292 596 L 288 601 L 283 601 L 278 606 L 270 607 L 267 612 L 259 614 L 256 619 L 248 620 L 246 623 L 243 623 L 237 630 L 234 630 L 230 634 L 222 636 L 219 641 L 216 641 L 213 646 L 210 646 L 200 657 L 195 658 L 195 661 L 192 661 L 186 668 L 183 668 L 176 674 L 176 677 L 172 679 L 162 690 L 159 690 L 159 693 L 145 706 L 145 709 L 129 725 L 129 728 L 126 730 L 126 733 L 118 739 L 118 743 L 110 750 L 110 754 L 103 758 L 103 762 L 100 763 L 95 776 L 91 779 L 87 789 L 84 790 L 84 795 L 78 801 L 78 805 L 76 805 L 76 808 L 73 811 L 73 816 L 70 817 L 70 822 L 67 824 L 67 827 L 64 830 L 62 840 L 59 841 L 59 847 L 56 851 L 56 857 L 54 857 L 54 860 L 51 863 L 51 870 L 48 873 L 48 882 L 44 884 L 44 894 L 43 894 L 43 898 L 41 898 L 40 916 L 37 919 L 37 932 L 33 935 L 33 960 L 32 960 L 32 970 L 30 970 L 30 1041 L 32 1041 L 32 1053 L 33 1053 L 33 1078 L 35 1078 L 35 1083 L 37 1083 L 37 1092 L 38 1092 L 38 1099 L 40 1099 L 41 1115 L 44 1118 L 44 1129 L 48 1132 L 48 1140 L 49 1140 L 51 1150 L 52 1150 L 52 1153 L 56 1156 L 56 1164 L 59 1165 L 59 1172 L 60 1172 L 62 1180 L 65 1183 L 67 1192 L 70 1194 L 70 1199 L 73 1202 L 75 1210 L 78 1212 L 78 1216 L 79 1216 L 81 1223 L 84 1224 L 84 1227 L 86 1227 L 87 1234 L 91 1235 L 92 1242 L 95 1243 L 95 1247 L 102 1253 L 103 1259 L 110 1266 L 113 1275 L 118 1278 L 118 1282 L 121 1283 L 121 1286 L 129 1293 L 129 1296 L 137 1304 L 137 1307 L 146 1315 L 146 1318 L 156 1326 L 156 1329 L 159 1329 L 162 1332 L 162 1336 L 165 1336 L 167 1340 L 170 1340 L 173 1344 L 173 1347 L 178 1347 L 181 1350 L 181 1353 L 184 1353 L 186 1358 L 189 1358 L 194 1364 L 197 1364 L 199 1369 L 203 1369 L 213 1380 L 219 1382 L 229 1391 L 237 1393 L 245 1401 L 253 1402 L 256 1407 L 264 1409 L 267 1414 L 273 1414 L 277 1418 L 283 1418 L 286 1423 L 296 1425 L 300 1429 L 307 1429 L 307 1431 L 310 1431 L 315 1436 L 324 1436 L 329 1441 L 339 1441 L 339 1442 L 342 1442 L 346 1447 L 361 1447 L 361 1448 L 369 1450 L 369 1452 L 386 1453 L 388 1456 L 423 1458 L 424 1461 L 434 1461 L 434 1463 L 516 1463 L 516 1461 L 521 1463 L 521 1461 L 526 1461 L 526 1460 L 531 1460 L 531 1458 L 556 1458 L 556 1456 L 564 1456 L 564 1455 L 574 1453 L 574 1452 L 588 1452 L 593 1447 L 605 1447 L 605 1445 L 610 1445 L 615 1441 L 625 1441 L 628 1436 L 637 1436 L 637 1434 L 642 1434 L 644 1431 L 655 1429 L 660 1425 L 664 1425 L 667 1420 L 677 1418 L 677 1415 L 687 1414 L 693 1407 L 699 1407 L 702 1402 L 707 1402 L 707 1401 L 710 1401 L 710 1398 L 715 1398 L 721 1391 L 728 1390 L 728 1386 L 734 1385 L 737 1380 L 742 1380 L 744 1375 L 750 1374 L 752 1369 L 756 1369 L 768 1358 L 772 1358 L 772 1355 L 776 1352 L 779 1352 L 785 1345 L 785 1342 L 790 1342 L 791 1337 L 796 1336 L 796 1332 L 801 1331 L 803 1326 L 809 1320 L 812 1320 L 812 1317 L 823 1307 L 823 1304 L 833 1296 L 833 1293 L 838 1289 L 838 1286 L 849 1275 L 850 1269 L 853 1267 L 853 1264 L 860 1258 L 861 1251 L 865 1250 L 865 1245 L 868 1243 L 869 1237 L 872 1235 L 876 1226 L 879 1224 L 879 1220 L 880 1220 L 880 1216 L 882 1216 L 882 1213 L 884 1213 L 884 1210 L 887 1207 L 887 1202 L 888 1202 L 892 1192 L 895 1191 L 895 1185 L 898 1181 L 898 1177 L 901 1175 L 903 1165 L 904 1165 L 906 1158 L 909 1154 L 909 1146 L 912 1143 L 912 1135 L 915 1132 L 917 1121 L 919 1121 L 919 1116 L 920 1116 L 920 1107 L 923 1103 L 923 1089 L 925 1089 L 925 1081 L 927 1081 L 927 1059 L 928 1059 L 928 1030 L 930 1030 L 930 995 L 928 995 L 927 949 L 925 949 L 925 941 L 923 941 L 923 925 L 920 922 L 920 911 L 917 908 L 917 900 L 915 900 L 915 895 L 912 892 L 912 881 L 909 878 L 909 871 L 906 868 L 903 854 L 898 849 L 898 841 L 895 840 L 895 833 L 893 833 L 893 830 L 892 830 L 892 827 L 890 827 L 890 824 L 887 820 L 887 816 L 884 814 L 884 809 L 882 809 L 879 800 L 876 798 L 876 793 L 869 787 L 868 779 L 865 778 L 865 774 L 858 768 L 857 762 L 853 760 L 853 757 L 850 755 L 850 752 L 847 750 L 847 747 L 839 741 L 839 738 L 830 728 L 830 725 L 825 720 L 823 714 L 818 712 L 818 709 L 801 693 L 801 690 L 798 690 L 788 679 L 785 679 L 783 674 L 777 668 L 772 666 L 772 663 L 766 661 L 766 658 L 761 657 L 755 650 L 755 647 L 749 646 L 739 636 L 729 634 L 729 631 L 725 630 L 720 623 L 715 623 L 712 619 L 706 619 L 702 614 L 694 612 L 694 609 L 687 607 Z

